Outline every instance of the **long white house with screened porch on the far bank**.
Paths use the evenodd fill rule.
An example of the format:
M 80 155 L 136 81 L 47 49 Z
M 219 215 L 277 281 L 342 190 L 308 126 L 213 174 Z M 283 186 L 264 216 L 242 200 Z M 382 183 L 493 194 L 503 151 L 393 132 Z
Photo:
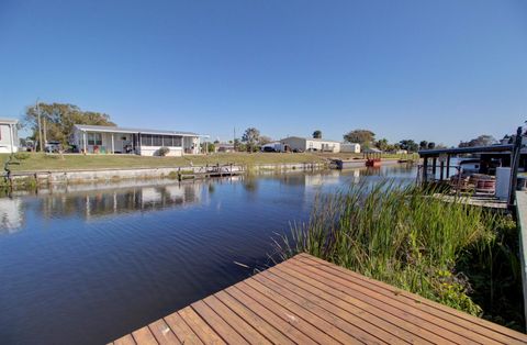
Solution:
M 167 156 L 182 156 L 199 154 L 201 137 L 206 136 L 191 132 L 76 124 L 70 144 L 83 153 L 158 156 L 159 149 L 167 147 Z

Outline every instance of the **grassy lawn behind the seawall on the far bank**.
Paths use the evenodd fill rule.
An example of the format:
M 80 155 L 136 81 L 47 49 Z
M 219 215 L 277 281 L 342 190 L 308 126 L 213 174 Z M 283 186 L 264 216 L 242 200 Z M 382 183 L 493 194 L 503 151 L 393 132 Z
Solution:
M 208 156 L 192 155 L 184 157 L 142 157 L 135 155 L 46 155 L 41 153 L 23 154 L 25 159 L 19 159 L 20 165 L 11 165 L 13 171 L 49 171 L 49 170 L 86 170 L 104 168 L 154 168 L 173 166 L 237 164 L 293 164 L 322 163 L 324 159 L 313 154 L 278 154 L 278 153 L 231 153 L 211 154 Z M 3 163 L 8 154 L 0 154 Z

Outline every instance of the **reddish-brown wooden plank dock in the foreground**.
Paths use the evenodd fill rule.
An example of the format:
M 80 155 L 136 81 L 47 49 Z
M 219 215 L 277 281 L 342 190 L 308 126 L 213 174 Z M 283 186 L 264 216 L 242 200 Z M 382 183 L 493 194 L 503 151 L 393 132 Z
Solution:
M 306 254 L 114 344 L 527 344 L 527 335 Z

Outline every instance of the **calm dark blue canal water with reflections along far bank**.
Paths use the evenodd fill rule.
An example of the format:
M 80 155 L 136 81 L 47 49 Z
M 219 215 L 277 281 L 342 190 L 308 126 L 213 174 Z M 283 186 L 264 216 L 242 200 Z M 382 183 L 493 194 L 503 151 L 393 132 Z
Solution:
M 0 343 L 108 343 L 269 265 L 271 237 L 306 220 L 321 190 L 415 174 L 392 166 L 1 198 Z

